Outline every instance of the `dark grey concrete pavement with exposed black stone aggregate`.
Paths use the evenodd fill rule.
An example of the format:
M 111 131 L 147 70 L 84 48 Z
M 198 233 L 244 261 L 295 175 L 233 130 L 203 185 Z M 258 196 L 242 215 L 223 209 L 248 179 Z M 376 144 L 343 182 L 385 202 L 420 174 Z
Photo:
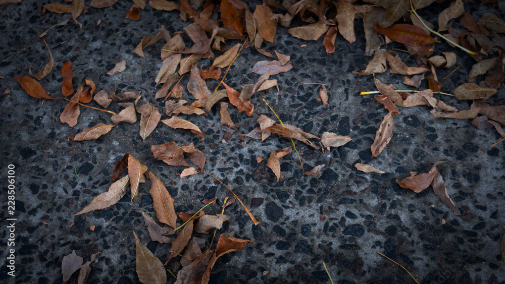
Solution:
M 338 283 L 412 283 L 400 267 L 377 253 L 383 253 L 405 266 L 422 283 L 503 283 L 504 263 L 500 239 L 504 229 L 505 143 L 493 129 L 477 130 L 471 120 L 435 119 L 427 106 L 401 108 L 394 117 L 394 136 L 379 157 L 371 158 L 370 146 L 386 110 L 375 99 L 360 96 L 360 91 L 375 90 L 371 76 L 359 77 L 351 71 L 363 69 L 371 58 L 364 56 L 362 21 L 355 21 L 358 40 L 352 44 L 337 36 L 336 50 L 327 54 L 318 41 L 296 39 L 278 27 L 275 43 L 267 50 L 291 56 L 293 69 L 272 78 L 275 88 L 252 96 L 255 112 L 251 117 L 238 113 L 230 105 L 238 134 L 257 127 L 260 114 L 275 118 L 261 100 L 270 102 L 285 123 L 320 136 L 325 131 L 348 135 L 353 140 L 332 148 L 328 154 L 296 143 L 306 169 L 326 164 L 318 177 L 305 176 L 298 158 L 281 159 L 279 182 L 266 160 L 270 151 L 288 147 L 288 139 L 273 134 L 265 142 L 239 137 L 237 132 L 222 143 L 226 129 L 220 124 L 219 106 L 205 116 L 185 116 L 203 132 L 205 140 L 188 131 L 174 130 L 162 124 L 145 140 L 135 124 L 120 123 L 97 140 L 72 142 L 68 137 L 97 123 L 109 123 L 106 112 L 81 107 L 78 124 L 70 128 L 59 120 L 67 104 L 63 100 L 45 101 L 30 97 L 13 77 L 38 71 L 49 60 L 47 49 L 37 36 L 49 27 L 69 18 L 69 14 L 42 14 L 40 6 L 52 1 L 24 0 L 0 6 L 0 129 L 2 173 L 2 230 L 0 230 L 2 269 L 0 280 L 6 283 L 61 283 L 62 258 L 75 250 L 84 261 L 101 252 L 91 264 L 88 283 L 135 283 L 135 242 L 132 231 L 162 262 L 169 256 L 169 244 L 151 242 L 144 221 L 137 210 L 154 216 L 148 189 L 141 185 L 132 203 L 129 193 L 116 205 L 85 215 L 73 216 L 98 194 L 107 191 L 114 164 L 129 152 L 145 163 L 167 186 L 178 212 L 194 212 L 201 200 L 216 196 L 222 203 L 228 191 L 203 174 L 182 180 L 182 167 L 168 166 L 150 151 L 151 144 L 175 141 L 179 146 L 194 143 L 207 157 L 206 171 L 220 178 L 242 198 L 260 224 L 255 226 L 238 202 L 229 206 L 230 217 L 221 233 L 250 239 L 255 244 L 221 257 L 211 273 L 213 283 L 329 283 L 323 260 Z M 97 91 L 139 90 L 144 101 L 154 102 L 154 78 L 161 67 L 159 52 L 163 42 L 144 49 L 145 59 L 133 53 L 143 36 L 155 35 L 165 25 L 174 33 L 188 23 L 178 11 L 164 12 L 148 5 L 140 11 L 140 21 L 126 18 L 131 2 L 122 1 L 106 9 L 88 8 L 77 20 L 82 29 L 69 21 L 47 33 L 55 68 L 40 83 L 55 97 L 61 93 L 61 68 L 71 61 L 74 88 L 84 78 L 97 85 Z M 255 2 L 248 3 L 254 8 Z M 261 4 L 257 2 L 257 4 Z M 435 10 L 445 6 L 435 6 Z M 486 8 L 487 7 L 487 8 Z M 492 10 L 465 4 L 474 17 Z M 433 12 L 432 11 L 432 12 Z M 500 18 L 505 13 L 492 11 Z M 430 15 L 425 12 L 424 15 Z M 431 15 L 437 15 L 432 13 Z M 426 16 L 428 17 L 428 16 Z M 425 18 L 426 19 L 426 18 Z M 435 21 L 434 18 L 431 19 Z M 97 24 L 97 22 L 99 24 Z M 305 25 L 293 21 L 292 26 Z M 232 46 L 238 41 L 227 41 Z M 187 45 L 189 44 L 186 43 Z M 301 47 L 300 45 L 307 46 Z M 388 49 L 401 48 L 389 44 Z M 453 51 L 462 68 L 443 81 L 443 91 L 450 92 L 467 82 L 473 59 L 446 43 L 435 46 L 435 54 Z M 220 54 L 220 53 L 216 53 Z M 401 54 L 403 59 L 406 54 Z M 126 70 L 114 76 L 105 73 L 117 62 L 126 60 Z M 254 83 L 259 75 L 249 74 L 258 61 L 269 60 L 253 48 L 241 52 L 226 82 L 235 89 Z M 210 66 L 212 60 L 198 64 Z M 413 64 L 413 62 L 409 62 Z M 455 66 L 456 67 L 456 66 Z M 437 69 L 444 78 L 453 69 Z M 186 89 L 189 76 L 182 80 Z M 378 78 L 400 88 L 402 77 L 384 73 Z M 209 89 L 218 81 L 209 79 Z M 317 101 L 319 86 L 328 85 L 329 105 Z M 424 86 L 423 83 L 422 86 Z M 426 87 L 426 86 L 425 86 Z M 491 105 L 505 103 L 503 87 L 490 99 Z M 447 104 L 468 109 L 466 101 L 436 95 Z M 191 101 L 185 90 L 182 99 Z M 163 103 L 154 102 L 163 107 Z M 90 105 L 98 106 L 92 102 Z M 108 109 L 121 107 L 111 103 Z M 166 118 L 164 116 L 164 118 Z M 245 146 L 241 143 L 246 142 Z M 260 163 L 257 157 L 264 158 Z M 410 172 L 427 172 L 434 162 L 445 160 L 441 174 L 448 194 L 460 208 L 456 216 L 433 193 L 431 187 L 421 193 L 400 188 L 396 179 Z M 365 174 L 354 167 L 357 162 L 371 164 L 386 174 Z M 16 276 L 7 275 L 7 169 L 16 166 Z M 77 176 L 74 167 L 80 173 Z M 220 213 L 219 206 L 206 213 Z M 44 224 L 42 221 L 48 223 Z M 70 227 L 70 224 L 74 223 Z M 94 231 L 89 230 L 95 225 Z M 207 240 L 210 235 L 201 234 Z M 219 236 L 219 233 L 218 233 Z M 218 237 L 216 236 L 216 238 Z M 75 273 L 69 283 L 77 283 Z M 174 278 L 168 275 L 168 281 Z

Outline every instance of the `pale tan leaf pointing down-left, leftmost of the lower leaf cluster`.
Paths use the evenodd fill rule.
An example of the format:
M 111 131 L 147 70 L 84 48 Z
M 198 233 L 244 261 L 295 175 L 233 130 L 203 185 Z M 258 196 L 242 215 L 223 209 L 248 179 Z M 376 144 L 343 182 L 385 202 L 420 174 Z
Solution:
M 116 204 L 126 194 L 126 186 L 129 180 L 130 179 L 128 176 L 124 176 L 120 180 L 116 181 L 109 187 L 108 191 L 103 192 L 102 194 L 93 198 L 91 203 L 89 203 L 78 213 L 75 213 L 74 216 L 91 212 L 93 210 L 104 209 Z

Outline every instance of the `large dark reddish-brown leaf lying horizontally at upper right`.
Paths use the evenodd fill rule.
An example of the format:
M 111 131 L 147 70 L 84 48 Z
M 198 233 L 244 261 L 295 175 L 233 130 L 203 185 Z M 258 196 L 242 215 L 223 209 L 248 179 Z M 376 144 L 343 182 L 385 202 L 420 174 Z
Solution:
M 375 24 L 374 28 L 389 39 L 406 45 L 424 46 L 436 41 L 425 30 L 414 25 L 396 24 L 382 28 Z

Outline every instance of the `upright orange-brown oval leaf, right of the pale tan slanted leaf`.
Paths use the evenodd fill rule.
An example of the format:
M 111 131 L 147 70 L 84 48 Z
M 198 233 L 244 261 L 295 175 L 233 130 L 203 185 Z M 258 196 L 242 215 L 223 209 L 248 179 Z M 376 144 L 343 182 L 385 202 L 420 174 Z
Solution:
M 149 180 L 151 181 L 149 194 L 153 198 L 153 208 L 155 209 L 156 217 L 160 222 L 176 229 L 177 213 L 175 213 L 174 199 L 155 174 L 149 172 Z

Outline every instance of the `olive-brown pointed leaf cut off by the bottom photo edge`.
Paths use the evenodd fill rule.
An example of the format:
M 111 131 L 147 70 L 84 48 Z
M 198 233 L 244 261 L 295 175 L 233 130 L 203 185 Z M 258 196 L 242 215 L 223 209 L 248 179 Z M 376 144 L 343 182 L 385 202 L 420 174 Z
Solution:
M 136 247 L 136 271 L 142 283 L 166 283 L 167 272 L 161 261 L 144 246 L 133 232 Z

